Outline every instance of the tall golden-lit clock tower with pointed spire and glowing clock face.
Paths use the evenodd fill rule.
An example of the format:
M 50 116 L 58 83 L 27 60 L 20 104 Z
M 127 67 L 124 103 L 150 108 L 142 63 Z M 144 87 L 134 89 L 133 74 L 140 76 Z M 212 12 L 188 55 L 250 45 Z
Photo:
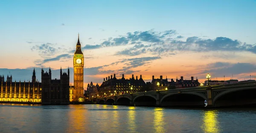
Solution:
M 80 97 L 84 96 L 84 54 L 81 51 L 81 44 L 79 41 L 76 43 L 76 52 L 74 54 L 74 89 L 72 93 L 72 99 L 70 101 L 78 101 Z

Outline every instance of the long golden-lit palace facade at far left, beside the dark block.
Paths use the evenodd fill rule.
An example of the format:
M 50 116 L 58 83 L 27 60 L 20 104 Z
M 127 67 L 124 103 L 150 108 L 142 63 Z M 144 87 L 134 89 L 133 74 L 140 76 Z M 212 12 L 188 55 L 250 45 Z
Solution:
M 0 101 L 13 102 L 41 102 L 41 83 L 36 81 L 35 69 L 32 75 L 32 82 L 12 82 L 12 75 L 0 77 Z

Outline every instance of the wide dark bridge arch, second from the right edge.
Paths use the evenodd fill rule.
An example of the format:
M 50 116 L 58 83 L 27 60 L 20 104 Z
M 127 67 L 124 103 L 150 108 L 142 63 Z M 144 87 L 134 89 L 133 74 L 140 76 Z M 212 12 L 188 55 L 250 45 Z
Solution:
M 171 100 L 168 101 L 167 98 L 171 98 Z M 160 105 L 162 106 L 203 106 L 204 100 L 207 100 L 207 97 L 201 93 L 196 93 L 196 92 L 170 93 L 170 94 L 164 95 L 160 99 Z

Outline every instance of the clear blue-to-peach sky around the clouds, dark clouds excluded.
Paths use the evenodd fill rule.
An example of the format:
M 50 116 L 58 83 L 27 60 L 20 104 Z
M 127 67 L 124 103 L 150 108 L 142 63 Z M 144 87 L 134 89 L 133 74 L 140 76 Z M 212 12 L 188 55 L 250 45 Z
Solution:
M 191 37 L 211 40 L 224 37 L 234 41 L 237 40 L 241 45 L 243 43 L 255 45 L 255 7 L 256 0 L 1 0 L 0 52 L 2 54 L 0 55 L 0 61 L 5 62 L 5 64 L 1 64 L 0 68 L 27 69 L 51 66 L 54 69 L 58 69 L 60 66 L 73 67 L 72 53 L 69 50 L 74 49 L 78 32 L 80 33 L 81 43 L 84 46 L 101 45 L 104 41 L 111 40 L 111 38 L 123 36 L 126 38 L 129 32 L 149 31 L 153 35 L 154 33 L 163 33 L 169 30 L 175 30 L 175 37 L 182 37 L 179 41 L 186 41 L 187 38 Z M 170 37 L 169 40 L 173 40 L 175 37 Z M 214 44 L 218 43 L 217 41 L 215 42 Z M 140 43 L 129 42 L 129 45 L 125 44 L 99 49 L 84 48 L 85 58 L 88 58 L 85 68 L 101 67 L 119 61 L 120 56 L 117 56 L 116 53 L 121 53 L 125 49 L 131 48 L 133 44 L 139 45 Z M 144 45 L 149 43 L 143 42 Z M 36 48 L 36 46 L 41 46 L 42 44 L 49 44 L 49 46 L 54 47 L 56 50 L 45 50 L 42 52 L 40 51 L 41 49 Z M 160 43 L 158 42 L 158 44 Z M 230 44 L 233 45 L 235 43 Z M 177 43 L 177 45 L 180 45 L 180 43 Z M 194 45 L 190 47 L 192 46 Z M 214 49 L 218 51 L 218 54 L 215 54 L 214 50 L 209 52 L 209 56 L 225 54 L 225 57 L 229 58 L 219 60 L 216 57 L 212 57 L 209 63 L 204 64 L 223 62 L 226 65 L 227 63 L 250 63 L 255 65 L 254 61 L 243 60 L 246 57 L 255 57 L 253 48 L 248 50 L 249 46 L 241 49 L 230 47 L 229 50 L 229 47 L 230 45 L 227 45 L 225 49 L 221 49 L 223 47 Z M 234 51 L 236 52 L 234 53 Z M 244 53 L 241 54 L 239 51 Z M 38 54 L 40 52 L 41 54 Z M 170 56 L 165 60 L 177 63 L 179 62 L 177 58 L 184 60 L 187 56 L 198 56 L 199 58 L 205 55 L 204 51 L 195 52 L 195 50 L 191 49 L 186 49 L 186 56 L 181 56 L 184 51 L 180 49 L 175 49 L 172 52 L 177 57 Z M 70 56 L 67 56 L 65 59 L 62 58 L 63 56 L 60 56 L 67 54 Z M 165 64 L 163 58 L 166 54 L 156 55 L 154 52 L 152 53 L 152 50 L 151 53 L 147 51 L 144 54 L 129 58 L 158 56 L 161 59 L 159 58 L 147 64 L 151 65 L 150 67 L 154 67 L 156 64 Z M 6 58 L 6 55 L 11 56 Z M 52 57 L 49 55 L 52 55 Z M 107 62 L 106 56 L 111 58 L 111 60 L 107 60 Z M 230 56 L 233 58 L 230 58 Z M 61 63 L 58 63 L 58 65 L 54 61 L 48 64 L 41 64 L 41 66 L 35 63 L 39 60 L 55 57 L 62 58 L 59 58 L 58 61 L 61 61 Z M 126 57 L 124 56 L 123 58 Z M 21 62 L 25 64 L 21 64 Z M 119 67 L 123 68 L 124 65 L 122 64 Z M 198 64 L 198 66 L 202 65 L 203 63 Z M 171 66 L 171 64 L 166 64 L 165 67 L 168 66 Z M 184 66 L 189 65 L 184 64 Z M 194 67 L 196 68 L 197 66 Z M 178 66 L 175 66 L 173 69 L 176 68 Z M 201 69 L 203 71 L 206 68 Z M 103 75 L 111 74 L 108 70 L 112 70 L 112 67 L 102 67 L 102 73 L 98 77 L 87 77 L 88 75 L 85 75 L 85 82 L 90 81 L 90 79 L 100 82 L 104 78 L 102 77 Z M 180 73 L 159 71 L 162 73 L 159 74 L 159 72 L 147 73 L 145 70 L 147 69 L 137 68 L 133 72 L 137 72 L 138 75 L 145 73 L 145 75 L 148 75 L 145 78 L 148 79 L 149 75 L 168 75 L 171 78 L 175 78 L 187 73 L 182 71 Z M 119 71 L 114 72 L 120 73 Z M 192 74 L 203 77 L 200 72 Z

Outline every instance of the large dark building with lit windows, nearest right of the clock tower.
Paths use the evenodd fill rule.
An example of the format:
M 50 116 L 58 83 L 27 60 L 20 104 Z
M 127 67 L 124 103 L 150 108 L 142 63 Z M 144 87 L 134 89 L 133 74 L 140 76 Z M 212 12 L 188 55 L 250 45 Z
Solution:
M 141 91 L 142 87 L 146 86 L 145 81 L 143 81 L 142 75 L 140 75 L 140 79 L 138 79 L 138 76 L 136 76 L 136 79 L 134 78 L 134 75 L 132 75 L 132 78 L 125 79 L 124 74 L 122 74 L 122 78 L 117 79 L 116 74 L 114 74 L 114 77 L 112 78 L 108 76 L 103 79 L 103 83 L 100 86 L 99 89 L 99 96 L 110 96 L 110 95 L 122 95 L 122 94 L 129 94 L 129 93 L 137 93 Z

